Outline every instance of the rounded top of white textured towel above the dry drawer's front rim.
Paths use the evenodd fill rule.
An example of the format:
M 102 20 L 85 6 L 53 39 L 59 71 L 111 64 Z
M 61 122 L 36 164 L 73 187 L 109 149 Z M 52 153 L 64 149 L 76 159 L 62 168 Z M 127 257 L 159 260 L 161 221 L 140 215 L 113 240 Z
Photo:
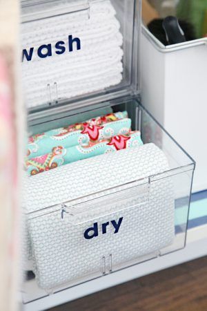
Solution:
M 168 169 L 164 152 L 152 143 L 72 162 L 32 178 L 26 177 L 23 209 L 26 213 L 38 211 Z

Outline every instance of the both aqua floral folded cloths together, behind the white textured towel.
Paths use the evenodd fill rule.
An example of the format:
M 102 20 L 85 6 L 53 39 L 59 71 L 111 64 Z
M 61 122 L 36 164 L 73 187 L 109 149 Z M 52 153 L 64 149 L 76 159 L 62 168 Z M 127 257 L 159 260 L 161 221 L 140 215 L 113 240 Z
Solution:
M 128 113 L 109 113 L 83 123 L 30 136 L 27 147 L 28 176 L 63 164 L 141 146 L 141 133 L 131 131 Z

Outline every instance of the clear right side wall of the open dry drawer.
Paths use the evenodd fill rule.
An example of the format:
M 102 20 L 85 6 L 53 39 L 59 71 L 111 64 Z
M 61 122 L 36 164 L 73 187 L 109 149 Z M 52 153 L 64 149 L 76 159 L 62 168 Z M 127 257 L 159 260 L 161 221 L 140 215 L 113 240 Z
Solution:
M 160 176 L 153 176 L 152 182 L 160 179 L 172 181 L 175 200 L 175 242 L 162 249 L 160 254 L 175 251 L 186 245 L 186 232 L 188 227 L 188 212 L 193 181 L 195 162 L 184 149 L 166 131 L 164 131 L 155 119 L 144 109 L 140 109 L 141 133 L 144 143 L 154 142 L 164 151 L 168 158 L 170 170 Z

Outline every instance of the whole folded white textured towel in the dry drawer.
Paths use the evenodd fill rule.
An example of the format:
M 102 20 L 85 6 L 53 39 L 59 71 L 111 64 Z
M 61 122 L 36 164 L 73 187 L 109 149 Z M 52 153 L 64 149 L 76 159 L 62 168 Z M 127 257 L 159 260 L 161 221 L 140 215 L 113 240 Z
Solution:
M 109 258 L 112 254 L 115 269 L 172 243 L 175 228 L 170 178 L 152 182 L 149 191 L 144 192 L 142 189 L 148 185 L 124 185 L 168 169 L 164 153 L 155 144 L 146 144 L 26 178 L 23 207 L 26 213 L 36 211 L 28 215 L 28 234 L 39 286 L 50 290 L 93 274 L 101 275 L 103 256 Z M 117 186 L 119 190 L 125 189 L 120 196 L 115 189 L 109 190 Z M 100 200 L 103 194 L 107 196 Z M 84 196 L 97 200 L 90 210 L 88 202 L 76 207 L 77 213 L 79 208 L 83 210 L 75 218 L 77 221 L 69 214 L 61 219 L 57 206 L 46 208 L 70 200 L 84 202 Z M 121 217 L 117 234 L 112 225 L 108 225 L 106 234 L 101 234 L 102 223 L 118 222 Z M 83 233 L 93 223 L 99 224 L 99 236 L 86 240 Z

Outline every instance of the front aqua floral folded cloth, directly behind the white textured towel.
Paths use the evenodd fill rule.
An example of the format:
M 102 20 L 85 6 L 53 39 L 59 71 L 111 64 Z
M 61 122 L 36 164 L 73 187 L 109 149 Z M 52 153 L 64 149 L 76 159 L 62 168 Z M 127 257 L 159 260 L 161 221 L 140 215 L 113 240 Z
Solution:
M 87 146 L 75 146 L 68 149 L 55 147 L 52 153 L 32 158 L 26 161 L 28 176 L 36 175 L 43 171 L 55 169 L 63 164 L 92 158 L 103 153 L 110 153 L 121 149 L 129 149 L 141 146 L 141 135 L 139 131 L 130 132 L 127 135 L 117 135 L 110 139 L 103 139 L 99 142 L 90 141 Z

